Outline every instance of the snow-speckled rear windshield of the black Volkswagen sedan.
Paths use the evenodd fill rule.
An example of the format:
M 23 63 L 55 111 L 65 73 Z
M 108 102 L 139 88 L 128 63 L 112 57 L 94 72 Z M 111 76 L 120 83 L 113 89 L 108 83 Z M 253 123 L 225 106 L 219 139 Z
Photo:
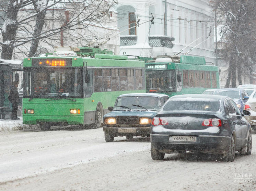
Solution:
M 163 111 L 196 110 L 196 111 L 219 111 L 218 100 L 169 100 L 163 107 Z

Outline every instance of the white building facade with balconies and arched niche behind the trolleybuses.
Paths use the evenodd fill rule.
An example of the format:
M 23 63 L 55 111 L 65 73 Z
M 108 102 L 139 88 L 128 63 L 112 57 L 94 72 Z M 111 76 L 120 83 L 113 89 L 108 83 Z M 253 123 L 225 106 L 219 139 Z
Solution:
M 214 63 L 214 14 L 208 3 L 209 0 L 119 0 L 119 54 L 174 55 L 199 44 L 188 55 L 203 56 L 206 62 Z M 135 24 L 136 28 L 128 29 Z

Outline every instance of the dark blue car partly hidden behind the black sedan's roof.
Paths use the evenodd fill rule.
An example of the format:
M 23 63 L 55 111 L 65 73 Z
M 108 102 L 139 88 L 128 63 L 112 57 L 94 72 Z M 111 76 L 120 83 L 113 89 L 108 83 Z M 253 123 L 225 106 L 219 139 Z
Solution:
M 228 96 L 236 103 L 236 106 L 243 112 L 246 101 L 249 98 L 248 93 L 241 88 L 223 88 L 216 89 L 213 91 L 212 95 L 222 95 Z

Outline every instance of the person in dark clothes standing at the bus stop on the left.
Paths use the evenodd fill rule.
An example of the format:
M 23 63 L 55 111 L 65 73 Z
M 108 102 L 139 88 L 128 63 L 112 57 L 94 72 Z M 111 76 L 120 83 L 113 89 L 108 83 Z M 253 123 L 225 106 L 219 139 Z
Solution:
M 18 104 L 20 101 L 20 95 L 18 92 L 18 84 L 19 82 L 14 81 L 13 86 L 11 88 L 10 94 L 9 94 L 9 101 L 12 103 L 12 116 L 11 119 L 17 120 L 20 119 L 17 117 L 17 111 L 18 111 Z

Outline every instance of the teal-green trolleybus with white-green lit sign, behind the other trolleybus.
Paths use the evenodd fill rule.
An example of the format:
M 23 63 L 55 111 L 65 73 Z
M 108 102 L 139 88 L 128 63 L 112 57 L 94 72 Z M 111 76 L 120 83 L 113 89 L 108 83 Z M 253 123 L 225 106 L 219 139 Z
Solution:
M 160 60 L 160 61 L 158 61 Z M 206 65 L 205 58 L 181 55 L 152 60 L 146 63 L 147 92 L 201 94 L 206 89 L 219 88 L 219 69 Z

